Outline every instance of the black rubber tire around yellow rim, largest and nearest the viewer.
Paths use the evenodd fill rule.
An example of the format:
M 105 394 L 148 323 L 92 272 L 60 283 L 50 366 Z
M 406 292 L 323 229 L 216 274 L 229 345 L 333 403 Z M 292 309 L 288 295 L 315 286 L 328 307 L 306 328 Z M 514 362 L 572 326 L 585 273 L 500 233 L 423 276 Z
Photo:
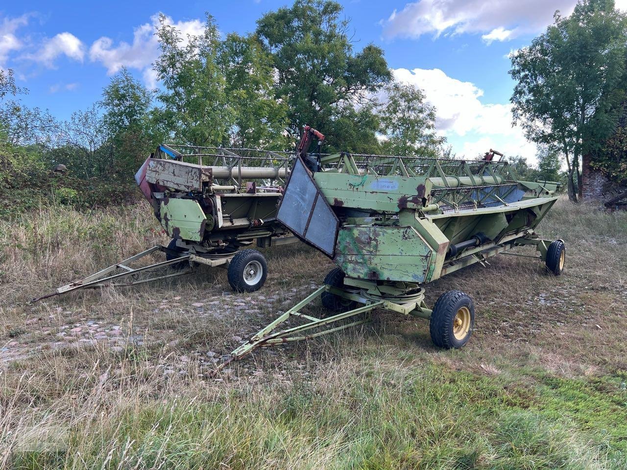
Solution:
M 470 313 L 470 327 L 465 337 L 455 337 L 455 316 L 461 308 L 466 307 Z M 433 307 L 431 320 L 429 321 L 429 333 L 431 341 L 440 348 L 461 348 L 468 343 L 475 326 L 475 304 L 472 298 L 462 291 L 448 291 L 443 293 Z

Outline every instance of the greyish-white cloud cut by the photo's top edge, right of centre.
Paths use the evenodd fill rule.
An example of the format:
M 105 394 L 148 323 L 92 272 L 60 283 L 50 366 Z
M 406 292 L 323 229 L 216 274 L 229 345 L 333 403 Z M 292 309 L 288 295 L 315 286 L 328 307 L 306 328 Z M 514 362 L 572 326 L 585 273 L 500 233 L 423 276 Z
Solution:
M 627 3 L 627 0 L 623 0 Z M 576 0 L 418 0 L 382 21 L 387 38 L 423 34 L 483 33 L 487 43 L 535 33 L 560 10 L 570 14 Z

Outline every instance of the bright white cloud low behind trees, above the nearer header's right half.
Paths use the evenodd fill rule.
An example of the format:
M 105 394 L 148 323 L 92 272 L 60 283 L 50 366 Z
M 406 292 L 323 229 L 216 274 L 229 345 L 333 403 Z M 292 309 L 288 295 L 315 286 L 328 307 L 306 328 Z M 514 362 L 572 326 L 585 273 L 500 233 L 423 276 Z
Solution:
M 480 100 L 483 90 L 438 68 L 398 68 L 393 73 L 396 80 L 424 90 L 428 102 L 436 107 L 436 128 L 458 156 L 474 158 L 492 148 L 534 161 L 535 145 L 527 142 L 520 127 L 512 127 L 509 103 L 484 104 Z

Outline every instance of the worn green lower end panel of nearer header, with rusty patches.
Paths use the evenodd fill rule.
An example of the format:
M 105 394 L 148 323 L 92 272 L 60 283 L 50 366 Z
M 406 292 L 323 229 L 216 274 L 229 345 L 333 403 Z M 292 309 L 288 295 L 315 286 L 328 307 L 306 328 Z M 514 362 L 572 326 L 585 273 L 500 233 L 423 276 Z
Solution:
M 344 226 L 336 253 L 352 278 L 424 282 L 433 250 L 413 227 Z

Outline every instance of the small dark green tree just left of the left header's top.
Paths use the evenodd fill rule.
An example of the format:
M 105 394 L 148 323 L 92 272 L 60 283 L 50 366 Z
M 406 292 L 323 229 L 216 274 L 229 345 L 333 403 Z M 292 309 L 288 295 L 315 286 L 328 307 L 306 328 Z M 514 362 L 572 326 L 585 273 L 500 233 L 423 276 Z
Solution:
M 112 145 L 112 164 L 117 173 L 134 172 L 155 145 L 150 135 L 152 93 L 127 68 L 111 78 L 102 93 L 103 127 Z

